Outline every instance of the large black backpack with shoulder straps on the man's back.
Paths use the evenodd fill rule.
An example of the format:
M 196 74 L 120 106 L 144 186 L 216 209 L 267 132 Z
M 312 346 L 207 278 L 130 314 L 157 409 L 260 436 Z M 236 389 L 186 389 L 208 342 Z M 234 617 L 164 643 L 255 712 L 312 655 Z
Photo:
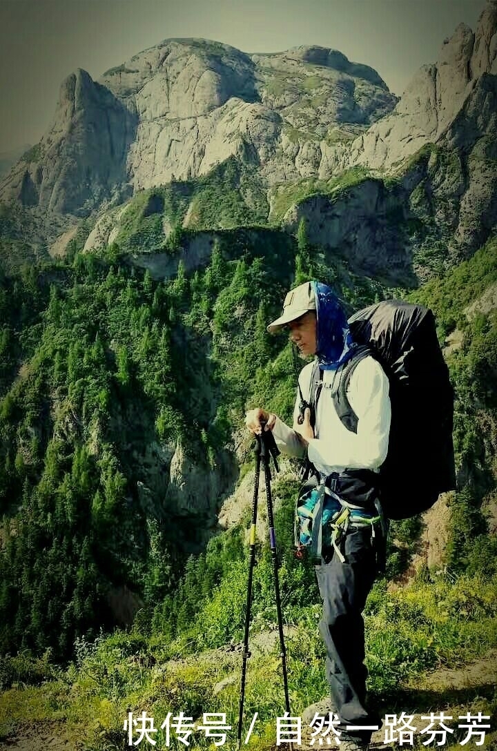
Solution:
M 357 354 L 342 368 L 333 401 L 342 423 L 357 430 L 346 391 L 367 354 L 390 382 L 392 419 L 387 458 L 378 487 L 384 514 L 406 519 L 426 511 L 440 493 L 456 487 L 453 454 L 453 388 L 436 335 L 432 311 L 402 300 L 385 300 L 348 320 Z M 318 394 L 312 379 L 309 401 Z

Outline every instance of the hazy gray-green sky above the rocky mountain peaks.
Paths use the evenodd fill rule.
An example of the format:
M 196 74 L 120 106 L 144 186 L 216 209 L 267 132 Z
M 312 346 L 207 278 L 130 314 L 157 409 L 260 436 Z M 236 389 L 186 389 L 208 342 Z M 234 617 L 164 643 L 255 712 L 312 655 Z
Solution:
M 340 50 L 402 94 L 462 21 L 486 0 L 0 0 L 0 152 L 37 143 L 59 86 L 92 78 L 170 37 L 203 37 L 244 52 L 300 44 Z

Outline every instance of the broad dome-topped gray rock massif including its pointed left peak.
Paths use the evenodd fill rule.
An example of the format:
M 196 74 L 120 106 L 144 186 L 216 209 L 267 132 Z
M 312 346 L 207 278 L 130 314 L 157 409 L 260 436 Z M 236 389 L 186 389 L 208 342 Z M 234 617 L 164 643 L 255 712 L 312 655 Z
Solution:
M 209 172 L 234 155 L 268 185 L 320 168 L 396 98 L 375 71 L 321 47 L 253 55 L 167 40 L 107 71 L 62 83 L 53 125 L 0 186 L 57 213 L 89 213 L 130 191 Z

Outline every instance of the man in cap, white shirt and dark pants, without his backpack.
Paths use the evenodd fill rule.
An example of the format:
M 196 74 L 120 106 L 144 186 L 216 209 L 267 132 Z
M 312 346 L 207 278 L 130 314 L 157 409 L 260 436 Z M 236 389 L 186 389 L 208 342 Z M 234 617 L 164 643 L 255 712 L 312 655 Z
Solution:
M 272 430 L 279 449 L 294 457 L 308 457 L 319 481 L 327 487 L 347 488 L 336 493 L 349 504 L 360 506 L 366 519 L 377 517 L 375 479 L 387 456 L 390 430 L 388 379 L 368 353 L 351 373 L 346 391 L 357 424 L 349 430 L 337 414 L 333 394 L 342 366 L 358 352 L 348 330 L 347 318 L 333 291 L 320 282 L 306 282 L 285 298 L 282 315 L 267 329 L 284 327 L 303 357 L 315 355 L 321 391 L 315 408 L 315 427 L 309 408 L 299 424 L 301 400 L 309 403 L 315 363 L 307 364 L 299 377 L 299 390 L 290 428 L 264 409 L 252 409 L 245 424 L 252 433 Z M 364 353 L 363 353 L 364 354 Z M 352 478 L 352 479 L 351 479 Z M 359 479 L 358 479 L 359 478 Z M 364 623 L 362 611 L 377 567 L 375 546 L 381 537 L 375 523 L 350 525 L 344 530 L 341 550 L 333 547 L 316 566 L 323 599 L 321 635 L 327 649 L 327 680 L 333 711 L 339 716 L 342 751 L 365 749 L 371 730 L 352 730 L 351 725 L 378 725 L 379 718 L 365 707 Z M 349 726 L 349 729 L 348 729 Z

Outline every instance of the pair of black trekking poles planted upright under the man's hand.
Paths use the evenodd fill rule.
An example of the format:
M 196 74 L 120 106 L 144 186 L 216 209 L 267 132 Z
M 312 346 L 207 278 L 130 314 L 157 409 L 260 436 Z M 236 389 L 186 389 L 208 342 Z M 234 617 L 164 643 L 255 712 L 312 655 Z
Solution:
M 245 701 L 245 682 L 247 673 L 247 660 L 251 653 L 248 651 L 248 631 L 250 627 L 250 611 L 252 608 L 252 581 L 255 566 L 255 541 L 256 541 L 256 528 L 257 528 L 257 508 L 258 508 L 258 494 L 259 494 L 259 475 L 261 473 L 261 460 L 264 466 L 264 478 L 266 481 L 266 496 L 267 496 L 267 516 L 270 528 L 270 547 L 274 562 L 275 573 L 275 593 L 276 593 L 276 612 L 278 614 L 278 627 L 279 627 L 279 641 L 281 647 L 282 656 L 282 668 L 283 668 L 283 684 L 285 690 L 285 708 L 290 713 L 290 701 L 288 698 L 288 677 L 286 666 L 286 652 L 285 641 L 283 635 L 283 619 L 282 619 L 282 602 L 279 594 L 279 578 L 278 578 L 278 559 L 276 557 L 276 534 L 274 531 L 273 520 L 273 499 L 271 497 L 271 469 L 270 469 L 270 457 L 273 457 L 276 471 L 278 471 L 278 463 L 276 457 L 279 454 L 279 450 L 276 446 L 276 442 L 270 430 L 264 431 L 261 436 L 255 436 L 255 481 L 254 481 L 254 498 L 252 501 L 252 524 L 250 527 L 250 552 L 248 559 L 248 585 L 247 585 L 247 605 L 245 609 L 245 632 L 243 637 L 243 652 L 242 652 L 242 685 L 240 690 L 240 703 L 239 703 L 239 715 L 238 715 L 238 748 L 242 746 L 242 722 L 243 722 L 243 704 Z

